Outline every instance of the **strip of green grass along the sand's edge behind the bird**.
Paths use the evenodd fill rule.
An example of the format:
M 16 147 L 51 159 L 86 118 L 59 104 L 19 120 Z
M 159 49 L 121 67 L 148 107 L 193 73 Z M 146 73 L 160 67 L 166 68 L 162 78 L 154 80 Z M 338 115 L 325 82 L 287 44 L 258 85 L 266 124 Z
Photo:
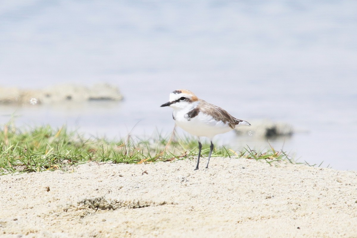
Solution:
M 113 163 L 151 163 L 184 158 L 196 159 L 197 141 L 193 137 L 172 140 L 158 135 L 155 138 L 127 136 L 119 141 L 105 138 L 85 138 L 77 132 L 68 132 L 66 127 L 36 127 L 20 131 L 4 125 L 0 127 L 0 174 L 40 172 L 45 170 L 68 170 L 89 161 Z M 207 156 L 209 144 L 203 143 L 201 154 Z M 212 157 L 243 157 L 263 159 L 268 163 L 279 160 L 292 162 L 282 151 L 272 147 L 265 152 L 244 148 L 235 152 L 226 147 L 213 150 Z

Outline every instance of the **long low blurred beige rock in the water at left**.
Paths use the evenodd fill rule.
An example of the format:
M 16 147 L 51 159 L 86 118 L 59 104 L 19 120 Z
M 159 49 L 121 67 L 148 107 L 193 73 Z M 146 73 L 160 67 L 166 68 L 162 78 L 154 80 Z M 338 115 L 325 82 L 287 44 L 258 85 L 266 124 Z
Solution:
M 0 103 L 2 104 L 22 105 L 91 100 L 120 101 L 122 99 L 123 96 L 119 88 L 105 83 L 92 87 L 57 85 L 37 90 L 0 87 Z

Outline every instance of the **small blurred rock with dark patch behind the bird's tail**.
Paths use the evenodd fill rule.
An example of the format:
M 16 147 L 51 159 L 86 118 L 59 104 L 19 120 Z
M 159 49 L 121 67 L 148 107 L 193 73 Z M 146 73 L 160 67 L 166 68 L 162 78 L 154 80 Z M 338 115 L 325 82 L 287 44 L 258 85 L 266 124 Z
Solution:
M 237 135 L 255 136 L 261 138 L 275 138 L 280 136 L 292 136 L 293 127 L 284 122 L 272 122 L 269 120 L 251 122 L 251 126 L 242 126 L 235 129 Z

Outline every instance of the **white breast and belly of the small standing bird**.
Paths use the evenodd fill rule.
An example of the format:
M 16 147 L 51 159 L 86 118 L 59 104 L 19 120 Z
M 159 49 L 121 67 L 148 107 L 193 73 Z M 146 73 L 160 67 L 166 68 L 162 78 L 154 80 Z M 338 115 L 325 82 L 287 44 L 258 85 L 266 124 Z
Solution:
M 233 130 L 228 124 L 222 121 L 216 121 L 212 116 L 204 113 L 198 113 L 196 117 L 185 118 L 184 112 L 174 112 L 176 125 L 181 127 L 194 136 L 205 136 L 212 138 L 213 136 L 221 133 L 226 133 Z

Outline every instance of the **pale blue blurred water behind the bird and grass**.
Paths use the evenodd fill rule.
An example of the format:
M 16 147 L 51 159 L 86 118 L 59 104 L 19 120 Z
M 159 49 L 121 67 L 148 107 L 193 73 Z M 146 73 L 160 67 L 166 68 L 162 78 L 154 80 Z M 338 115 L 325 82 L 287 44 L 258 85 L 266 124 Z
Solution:
M 355 0 L 0 2 L 5 91 L 109 83 L 124 97 L 2 103 L 2 125 L 170 135 L 172 110 L 159 106 L 186 88 L 252 124 L 291 125 L 293 135 L 270 143 L 298 162 L 356 170 L 356 76 Z M 269 147 L 254 132 L 215 139 L 236 150 Z

